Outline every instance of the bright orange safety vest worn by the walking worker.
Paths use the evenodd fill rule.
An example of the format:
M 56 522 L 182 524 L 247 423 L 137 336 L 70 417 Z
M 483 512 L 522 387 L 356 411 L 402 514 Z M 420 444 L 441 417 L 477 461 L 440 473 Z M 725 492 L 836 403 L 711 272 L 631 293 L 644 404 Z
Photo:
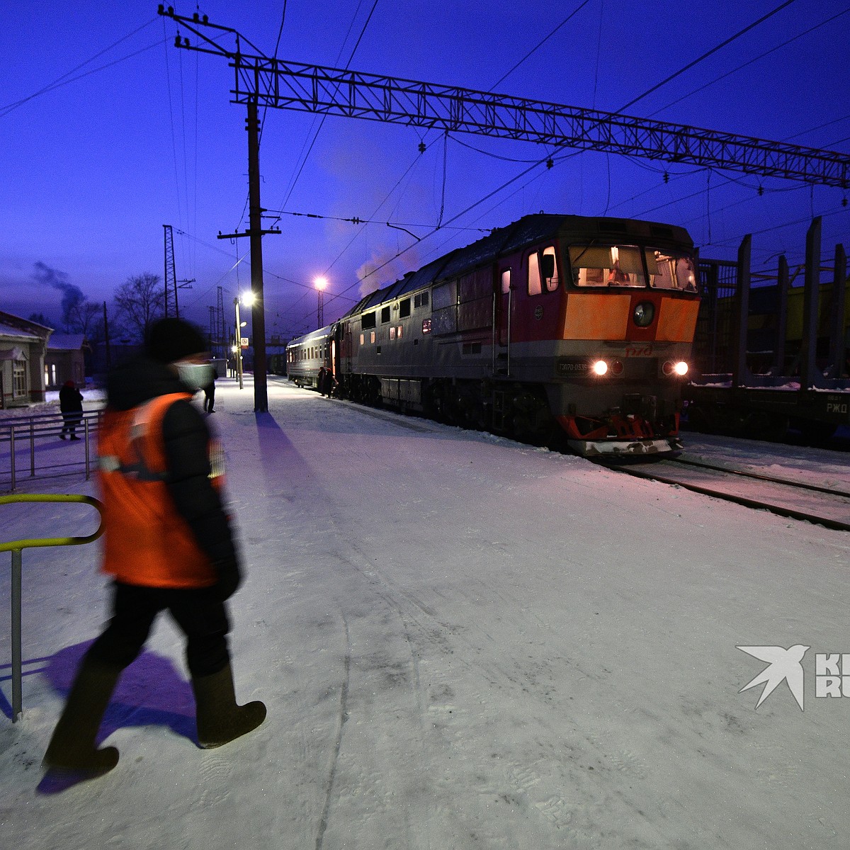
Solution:
M 99 429 L 98 477 L 104 504 L 102 570 L 142 587 L 211 587 L 218 581 L 207 554 L 168 493 L 162 420 L 189 393 L 159 395 L 129 411 L 107 409 Z M 211 443 L 212 448 L 212 443 Z M 220 451 L 215 453 L 220 454 Z M 211 451 L 212 485 L 223 484 Z

